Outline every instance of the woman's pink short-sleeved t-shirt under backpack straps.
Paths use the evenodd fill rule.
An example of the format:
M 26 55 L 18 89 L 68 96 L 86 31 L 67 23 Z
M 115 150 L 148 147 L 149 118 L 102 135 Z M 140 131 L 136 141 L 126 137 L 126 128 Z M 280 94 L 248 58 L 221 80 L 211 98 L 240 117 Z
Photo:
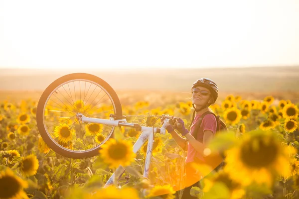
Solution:
M 201 114 L 197 114 L 195 115 L 194 121 L 191 125 L 191 129 L 190 129 L 190 134 L 193 136 L 194 132 L 194 128 L 195 128 L 195 123 L 198 121 L 199 117 Z M 198 130 L 198 134 L 197 134 L 197 140 L 199 141 L 200 139 L 202 140 L 203 138 L 203 132 L 205 130 L 210 130 L 213 132 L 213 135 L 215 135 L 216 133 L 216 128 L 217 128 L 217 121 L 214 115 L 212 114 L 207 114 L 204 116 L 204 118 L 201 121 L 201 125 L 200 128 Z M 204 161 L 202 154 L 200 154 L 199 152 L 197 152 L 193 146 L 188 142 L 188 152 L 187 152 L 187 158 L 185 160 L 185 163 L 188 162 L 193 162 L 194 158 L 198 158 L 202 161 Z

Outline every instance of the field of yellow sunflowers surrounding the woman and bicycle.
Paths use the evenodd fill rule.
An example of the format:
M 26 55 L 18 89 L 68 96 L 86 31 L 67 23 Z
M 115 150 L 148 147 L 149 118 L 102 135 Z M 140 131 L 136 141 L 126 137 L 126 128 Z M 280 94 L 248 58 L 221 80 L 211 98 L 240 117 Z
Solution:
M 99 154 L 84 159 L 66 158 L 41 138 L 36 124 L 37 102 L 0 101 L 0 199 L 175 198 L 184 178 L 186 152 L 169 133 L 155 134 L 149 176 L 144 178 L 148 143 L 136 154 L 133 152 L 142 132 L 116 127 L 114 136 L 106 140 L 101 131 L 105 127 L 90 123 L 82 130 L 93 136 L 89 140 L 93 143 L 105 141 Z M 73 106 L 80 108 L 82 103 L 77 100 Z M 127 122 L 143 126 L 161 127 L 157 118 L 162 114 L 180 117 L 189 126 L 193 113 L 190 100 L 167 105 L 140 100 L 122 105 L 123 115 L 134 115 Z M 217 133 L 208 149 L 225 154 L 225 166 L 210 173 L 204 165 L 194 165 L 208 175 L 201 182 L 202 189 L 192 188 L 191 195 L 199 199 L 299 198 L 298 105 L 297 101 L 273 96 L 246 100 L 236 95 L 211 105 L 211 111 L 220 115 L 228 132 Z M 49 120 L 58 114 L 52 111 L 47 113 Z M 71 121 L 51 126 L 61 146 L 86 147 L 72 142 L 72 132 L 77 129 Z M 104 188 L 119 165 L 126 172 L 113 186 Z

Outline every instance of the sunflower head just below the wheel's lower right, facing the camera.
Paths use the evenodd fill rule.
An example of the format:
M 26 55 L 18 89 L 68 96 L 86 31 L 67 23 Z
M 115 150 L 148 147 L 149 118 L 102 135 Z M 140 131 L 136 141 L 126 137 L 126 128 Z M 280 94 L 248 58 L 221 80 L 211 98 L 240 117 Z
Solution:
M 128 166 L 136 157 L 133 152 L 133 145 L 128 140 L 116 141 L 110 138 L 102 145 L 99 152 L 110 168 L 117 168 L 120 165 L 123 167 Z

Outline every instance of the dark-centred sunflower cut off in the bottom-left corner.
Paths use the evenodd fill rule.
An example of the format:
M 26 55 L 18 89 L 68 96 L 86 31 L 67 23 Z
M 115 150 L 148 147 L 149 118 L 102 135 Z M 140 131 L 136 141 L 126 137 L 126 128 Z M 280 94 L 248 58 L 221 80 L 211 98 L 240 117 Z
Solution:
M 28 199 L 24 188 L 28 183 L 13 174 L 10 169 L 0 172 L 0 199 Z

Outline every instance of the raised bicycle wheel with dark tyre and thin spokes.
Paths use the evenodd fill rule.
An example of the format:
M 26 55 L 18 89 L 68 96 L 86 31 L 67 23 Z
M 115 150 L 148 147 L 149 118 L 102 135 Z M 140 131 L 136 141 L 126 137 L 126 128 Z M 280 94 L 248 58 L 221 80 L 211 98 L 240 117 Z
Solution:
M 111 113 L 122 116 L 121 102 L 107 82 L 86 73 L 65 75 L 41 95 L 36 122 L 45 143 L 65 157 L 93 157 L 113 136 L 115 126 L 81 122 L 77 113 L 101 119 L 109 119 Z

